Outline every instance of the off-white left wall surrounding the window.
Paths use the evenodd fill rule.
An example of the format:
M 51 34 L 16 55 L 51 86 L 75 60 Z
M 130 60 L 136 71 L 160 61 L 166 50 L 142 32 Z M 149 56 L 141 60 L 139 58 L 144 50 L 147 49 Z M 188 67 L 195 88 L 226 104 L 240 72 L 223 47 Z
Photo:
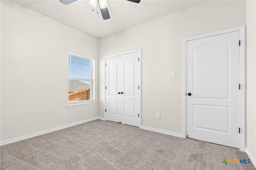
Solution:
M 66 108 L 68 51 L 95 57 L 98 79 L 97 39 L 1 1 L 1 141 L 98 116 L 98 104 Z

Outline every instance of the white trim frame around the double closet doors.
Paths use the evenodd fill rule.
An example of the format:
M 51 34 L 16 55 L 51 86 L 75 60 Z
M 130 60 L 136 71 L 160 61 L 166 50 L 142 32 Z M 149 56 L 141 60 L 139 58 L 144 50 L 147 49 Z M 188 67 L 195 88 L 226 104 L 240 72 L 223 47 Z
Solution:
M 131 50 L 131 51 L 125 51 L 125 52 L 122 52 L 122 53 L 116 53 L 116 54 L 113 54 L 113 55 L 108 55 L 108 56 L 105 56 L 104 57 L 104 60 L 105 60 L 105 63 L 104 63 L 104 71 L 105 71 L 105 77 L 104 77 L 104 84 L 105 84 L 105 87 L 106 87 L 106 59 L 107 58 L 110 58 L 110 57 L 115 57 L 115 56 L 118 56 L 118 55 L 124 55 L 124 54 L 128 54 L 128 53 L 135 53 L 135 52 L 139 52 L 139 59 L 140 59 L 140 62 L 139 62 L 139 86 L 140 86 L 140 89 L 139 89 L 139 128 L 140 128 L 140 125 L 141 125 L 141 49 L 134 49 L 134 50 Z M 106 88 L 105 88 L 105 98 L 104 98 L 104 108 L 106 109 Z M 106 117 L 106 112 L 104 110 L 104 119 Z M 106 120 L 106 119 L 105 119 Z

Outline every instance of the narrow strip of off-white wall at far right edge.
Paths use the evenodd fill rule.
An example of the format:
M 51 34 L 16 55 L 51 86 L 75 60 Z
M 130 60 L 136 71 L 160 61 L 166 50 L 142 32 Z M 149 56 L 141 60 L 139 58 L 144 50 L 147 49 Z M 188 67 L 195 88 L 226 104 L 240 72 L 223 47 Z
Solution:
M 256 159 L 256 1 L 246 1 L 246 59 L 247 59 L 247 144 Z M 256 166 L 256 165 L 255 165 Z

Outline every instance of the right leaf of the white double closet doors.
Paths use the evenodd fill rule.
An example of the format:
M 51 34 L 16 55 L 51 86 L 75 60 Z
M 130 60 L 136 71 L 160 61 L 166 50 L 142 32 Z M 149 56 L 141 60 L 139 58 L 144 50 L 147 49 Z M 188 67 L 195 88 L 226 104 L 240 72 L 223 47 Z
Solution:
M 140 65 L 139 52 L 121 56 L 121 122 L 139 127 L 140 111 Z

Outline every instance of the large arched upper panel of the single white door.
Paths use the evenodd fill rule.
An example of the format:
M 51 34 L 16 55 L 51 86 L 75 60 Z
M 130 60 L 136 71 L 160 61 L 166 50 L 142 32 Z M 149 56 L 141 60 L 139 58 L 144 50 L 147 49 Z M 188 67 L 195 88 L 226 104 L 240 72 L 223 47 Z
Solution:
M 227 42 L 208 43 L 194 48 L 195 97 L 229 99 L 229 50 L 230 43 Z

